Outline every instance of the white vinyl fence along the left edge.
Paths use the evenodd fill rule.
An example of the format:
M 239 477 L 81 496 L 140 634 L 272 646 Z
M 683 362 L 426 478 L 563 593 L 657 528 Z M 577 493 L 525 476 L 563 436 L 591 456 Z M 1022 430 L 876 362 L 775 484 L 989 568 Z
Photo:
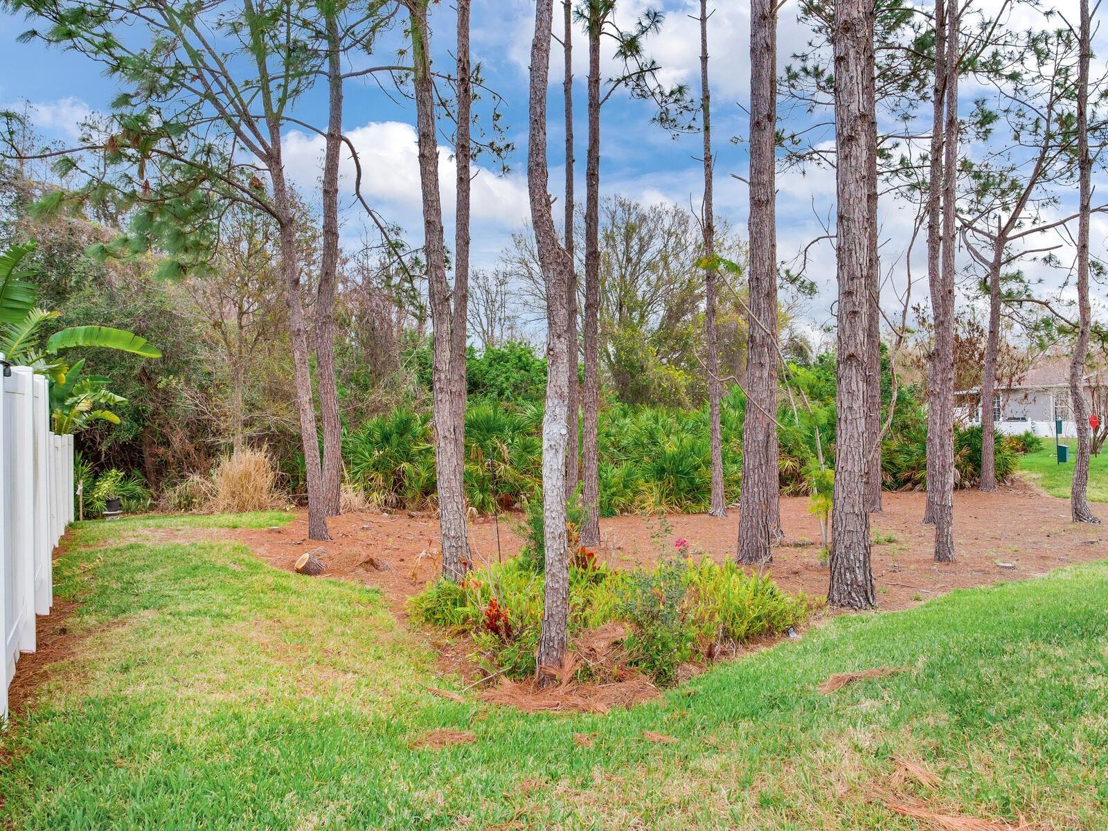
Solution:
M 3 379 L 0 406 L 0 721 L 35 615 L 53 605 L 52 552 L 73 520 L 73 437 L 50 430 L 48 381 L 28 367 Z

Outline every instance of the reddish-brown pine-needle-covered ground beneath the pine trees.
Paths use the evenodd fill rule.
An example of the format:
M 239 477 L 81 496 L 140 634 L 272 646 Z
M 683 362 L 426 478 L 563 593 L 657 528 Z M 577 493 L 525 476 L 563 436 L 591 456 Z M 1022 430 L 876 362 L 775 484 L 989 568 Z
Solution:
M 872 517 L 873 576 L 880 608 L 901 609 L 953 588 L 1026 579 L 1071 563 L 1108 557 L 1108 526 L 1076 525 L 1067 500 L 1026 486 L 996 493 L 960 491 L 954 496 L 956 562 L 935 563 L 933 532 L 923 525 L 923 493 L 885 493 L 884 511 Z M 1108 519 L 1108 509 L 1101 509 Z M 523 545 L 517 515 L 472 525 L 474 563 L 510 557 Z M 673 554 L 674 543 L 688 541 L 694 553 L 722 561 L 733 555 L 739 514 L 727 519 L 678 514 L 658 520 L 617 516 L 601 521 L 599 555 L 626 568 L 656 563 Z M 263 530 L 220 531 L 235 537 L 279 568 L 290 570 L 305 551 L 317 551 L 326 575 L 356 579 L 381 588 L 393 609 L 438 574 L 438 523 L 430 514 L 400 511 L 346 514 L 330 520 L 331 541 L 306 540 L 304 514 L 289 525 Z M 784 542 L 774 551 L 768 573 L 789 592 L 824 596 L 828 570 L 819 556 L 819 523 L 802 496 L 781 497 Z M 499 531 L 499 546 L 497 546 Z M 370 560 L 371 558 L 371 560 Z M 1004 565 L 999 565 L 1003 563 Z

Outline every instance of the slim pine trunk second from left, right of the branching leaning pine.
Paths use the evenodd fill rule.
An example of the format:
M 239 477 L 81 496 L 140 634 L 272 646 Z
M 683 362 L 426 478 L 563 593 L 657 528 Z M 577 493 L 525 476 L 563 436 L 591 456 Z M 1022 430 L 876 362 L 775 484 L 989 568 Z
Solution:
M 324 151 L 324 248 L 316 288 L 316 384 L 324 424 L 324 503 L 328 516 L 340 510 L 342 493 L 342 422 L 335 380 L 335 279 L 339 261 L 339 148 L 342 143 L 342 63 L 339 23 L 329 14 L 327 29 L 328 119 Z

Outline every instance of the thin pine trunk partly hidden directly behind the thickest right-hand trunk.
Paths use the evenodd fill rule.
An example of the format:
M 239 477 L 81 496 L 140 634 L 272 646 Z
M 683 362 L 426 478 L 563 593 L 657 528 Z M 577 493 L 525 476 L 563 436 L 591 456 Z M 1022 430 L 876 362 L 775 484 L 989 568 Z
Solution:
M 874 42 L 874 14 L 866 16 L 870 30 L 866 34 Z M 865 375 L 865 430 L 871 437 L 866 456 L 866 501 L 871 513 L 881 512 L 881 271 L 878 254 L 878 120 L 876 76 L 870 72 L 862 79 L 865 109 L 874 117 L 865 126 L 865 205 L 869 214 L 866 239 L 869 275 L 869 325 L 866 326 Z

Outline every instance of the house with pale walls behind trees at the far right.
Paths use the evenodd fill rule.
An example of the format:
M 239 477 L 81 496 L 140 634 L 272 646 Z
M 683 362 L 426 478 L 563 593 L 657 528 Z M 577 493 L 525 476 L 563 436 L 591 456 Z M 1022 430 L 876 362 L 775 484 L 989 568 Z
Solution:
M 1108 400 L 1108 370 L 1085 376 L 1085 401 L 1090 412 L 1105 421 L 1102 408 Z M 954 417 L 963 424 L 981 423 L 981 389 L 954 393 Z M 1061 419 L 1061 434 L 1074 438 L 1077 425 L 1069 398 L 1069 359 L 1044 356 L 1015 381 L 998 381 L 993 397 L 993 420 L 1002 433 L 1030 431 L 1044 439 L 1055 434 L 1055 419 Z

